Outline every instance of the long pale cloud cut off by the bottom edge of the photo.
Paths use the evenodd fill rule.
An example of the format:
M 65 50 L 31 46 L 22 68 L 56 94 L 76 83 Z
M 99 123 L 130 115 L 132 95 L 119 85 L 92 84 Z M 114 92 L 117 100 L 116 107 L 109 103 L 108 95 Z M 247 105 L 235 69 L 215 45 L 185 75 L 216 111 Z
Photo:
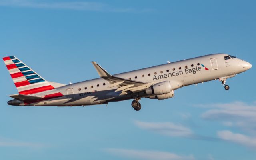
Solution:
M 119 148 L 107 148 L 106 151 L 110 154 L 128 157 L 132 159 L 144 160 L 194 160 L 193 155 L 183 156 L 170 152 L 152 151 L 152 150 L 129 150 Z

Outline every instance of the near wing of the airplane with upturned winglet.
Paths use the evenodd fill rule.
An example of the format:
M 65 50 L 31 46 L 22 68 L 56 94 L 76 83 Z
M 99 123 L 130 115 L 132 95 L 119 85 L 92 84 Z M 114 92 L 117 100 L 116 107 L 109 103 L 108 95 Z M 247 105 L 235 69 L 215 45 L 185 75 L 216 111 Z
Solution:
M 118 86 L 118 89 L 115 92 L 122 91 L 120 95 L 127 94 L 127 91 L 139 92 L 141 90 L 145 90 L 146 88 L 154 84 L 112 76 L 96 62 L 93 61 L 92 64 L 98 72 L 98 74 L 100 75 L 100 77 L 110 82 L 108 88 Z

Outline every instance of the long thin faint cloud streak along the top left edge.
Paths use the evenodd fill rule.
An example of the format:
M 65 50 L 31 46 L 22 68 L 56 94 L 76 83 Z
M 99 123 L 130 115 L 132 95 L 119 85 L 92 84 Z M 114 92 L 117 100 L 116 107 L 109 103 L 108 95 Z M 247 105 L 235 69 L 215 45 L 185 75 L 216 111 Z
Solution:
M 38 0 L 0 0 L 0 6 L 20 8 L 69 9 L 101 12 L 149 12 L 151 9 L 117 8 L 102 2 L 84 1 L 38 1 Z

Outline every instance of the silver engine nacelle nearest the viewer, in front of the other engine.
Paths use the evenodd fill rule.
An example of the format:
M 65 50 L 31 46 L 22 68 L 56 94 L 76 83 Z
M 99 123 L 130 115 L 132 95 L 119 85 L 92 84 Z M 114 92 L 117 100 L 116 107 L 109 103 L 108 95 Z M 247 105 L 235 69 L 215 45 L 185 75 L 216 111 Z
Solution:
M 170 81 L 164 81 L 152 85 L 150 88 L 146 89 L 146 94 L 162 95 L 172 92 L 172 86 Z

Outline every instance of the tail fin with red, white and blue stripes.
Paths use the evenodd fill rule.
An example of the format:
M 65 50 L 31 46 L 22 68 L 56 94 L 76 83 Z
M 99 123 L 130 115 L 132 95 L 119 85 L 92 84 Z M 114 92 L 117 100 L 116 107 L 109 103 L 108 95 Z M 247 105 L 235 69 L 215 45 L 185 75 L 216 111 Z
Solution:
M 34 70 L 14 56 L 4 57 L 4 63 L 12 77 L 19 94 L 34 94 L 54 87 Z

